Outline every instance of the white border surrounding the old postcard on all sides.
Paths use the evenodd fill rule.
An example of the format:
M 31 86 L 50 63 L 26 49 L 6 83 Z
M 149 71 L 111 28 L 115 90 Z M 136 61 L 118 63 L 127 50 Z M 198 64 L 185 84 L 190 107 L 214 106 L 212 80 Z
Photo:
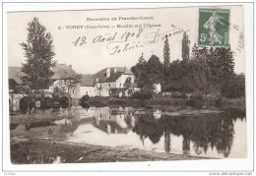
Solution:
M 85 164 L 43 164 L 43 165 L 12 165 L 10 162 L 10 139 L 8 118 L 8 56 L 7 56 L 7 12 L 10 11 L 51 11 L 51 10 L 86 10 L 86 9 L 117 9 L 117 8 L 158 8 L 158 7 L 186 7 L 186 6 L 219 6 L 219 5 L 243 5 L 244 6 L 244 33 L 245 33 L 245 58 L 246 58 L 246 121 L 248 139 L 248 158 L 246 159 L 222 159 L 222 160 L 192 160 L 192 161 L 154 161 L 154 162 L 118 162 L 118 163 L 85 163 Z M 253 162 L 253 7 L 248 3 L 134 3 L 134 4 L 79 4 L 79 3 L 22 3 L 4 4 L 3 6 L 3 169 L 8 171 L 246 171 L 252 170 Z M 19 28 L 19 27 L 17 27 Z M 2 73 L 1 73 L 2 74 Z M 1 124 L 2 125 L 2 124 Z M 1 151 L 2 152 L 2 151 Z M 150 166 L 149 166 L 150 165 Z M 47 173 L 46 173 L 47 174 Z

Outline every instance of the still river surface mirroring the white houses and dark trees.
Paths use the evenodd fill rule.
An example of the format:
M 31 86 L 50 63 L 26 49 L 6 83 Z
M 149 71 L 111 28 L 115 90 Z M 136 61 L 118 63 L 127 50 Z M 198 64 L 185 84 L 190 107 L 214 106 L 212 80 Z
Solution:
M 193 116 L 164 113 L 160 108 L 132 107 L 90 107 L 55 113 L 65 118 L 33 122 L 28 137 L 211 157 L 246 155 L 245 110 L 242 109 L 226 108 L 224 113 Z M 19 126 L 12 125 L 13 136 L 21 131 Z

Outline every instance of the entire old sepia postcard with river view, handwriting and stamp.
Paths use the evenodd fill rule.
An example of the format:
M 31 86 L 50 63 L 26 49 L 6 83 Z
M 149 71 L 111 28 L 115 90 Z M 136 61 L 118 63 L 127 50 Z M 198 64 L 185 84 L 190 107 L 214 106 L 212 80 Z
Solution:
M 12 164 L 246 158 L 243 13 L 9 12 Z

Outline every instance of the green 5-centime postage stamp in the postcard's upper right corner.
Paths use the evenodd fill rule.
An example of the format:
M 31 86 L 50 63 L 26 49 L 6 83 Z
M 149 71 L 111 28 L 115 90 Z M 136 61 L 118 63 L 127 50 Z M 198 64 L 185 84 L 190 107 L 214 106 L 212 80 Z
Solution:
M 198 45 L 228 45 L 229 10 L 199 9 Z

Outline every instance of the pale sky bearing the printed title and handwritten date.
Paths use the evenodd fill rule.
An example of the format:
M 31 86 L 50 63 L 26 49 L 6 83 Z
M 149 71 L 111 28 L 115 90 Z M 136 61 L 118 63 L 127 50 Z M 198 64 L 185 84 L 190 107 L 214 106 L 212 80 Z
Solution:
M 230 9 L 229 43 L 235 52 L 234 71 L 244 73 L 243 38 L 240 34 L 243 31 L 242 7 L 222 8 Z M 183 31 L 189 36 L 190 51 L 197 42 L 198 15 L 198 7 L 8 13 L 8 65 L 22 66 L 26 62 L 20 43 L 26 42 L 28 23 L 34 17 L 53 37 L 54 60 L 72 65 L 79 74 L 94 74 L 106 67 L 131 68 L 142 53 L 146 60 L 155 54 L 162 62 L 165 34 L 169 35 L 170 62 L 181 59 Z M 102 18 L 104 21 L 96 21 Z M 156 27 L 150 28 L 149 25 Z M 90 29 L 86 29 L 89 26 Z M 155 37 L 157 33 L 159 37 Z

